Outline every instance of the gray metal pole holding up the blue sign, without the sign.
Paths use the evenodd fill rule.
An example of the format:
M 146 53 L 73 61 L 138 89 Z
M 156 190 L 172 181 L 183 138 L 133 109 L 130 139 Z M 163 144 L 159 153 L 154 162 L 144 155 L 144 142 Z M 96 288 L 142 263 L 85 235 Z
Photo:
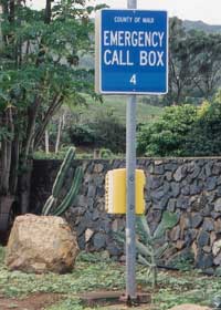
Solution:
M 137 8 L 137 0 L 127 0 L 128 9 Z M 136 299 L 136 246 L 135 246 L 135 169 L 136 169 L 136 95 L 127 102 L 126 137 L 126 296 Z

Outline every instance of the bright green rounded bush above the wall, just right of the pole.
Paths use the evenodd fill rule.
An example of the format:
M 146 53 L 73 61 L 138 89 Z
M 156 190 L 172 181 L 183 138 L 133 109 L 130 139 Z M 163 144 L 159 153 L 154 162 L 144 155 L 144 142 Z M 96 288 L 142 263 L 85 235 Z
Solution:
M 186 156 L 187 135 L 191 133 L 196 117 L 197 108 L 192 105 L 166 107 L 158 121 L 140 128 L 139 155 Z

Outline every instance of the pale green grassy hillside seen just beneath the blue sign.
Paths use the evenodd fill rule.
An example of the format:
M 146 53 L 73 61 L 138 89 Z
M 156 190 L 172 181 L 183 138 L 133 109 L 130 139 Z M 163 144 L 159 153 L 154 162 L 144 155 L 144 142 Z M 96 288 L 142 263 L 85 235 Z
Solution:
M 126 123 L 126 104 L 127 96 L 109 95 L 103 97 L 103 103 L 94 102 L 87 97 L 88 105 L 86 107 L 77 106 L 74 112 L 81 113 L 82 120 L 92 121 L 101 112 L 113 112 L 123 123 Z M 143 102 L 143 97 L 137 101 L 137 123 L 149 123 L 162 113 L 162 107 L 147 104 Z

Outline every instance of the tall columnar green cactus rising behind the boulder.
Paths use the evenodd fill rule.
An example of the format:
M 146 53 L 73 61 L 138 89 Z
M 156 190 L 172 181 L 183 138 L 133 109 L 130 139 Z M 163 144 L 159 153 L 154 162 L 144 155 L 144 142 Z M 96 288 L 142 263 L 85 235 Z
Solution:
M 70 169 L 71 163 L 72 163 L 74 156 L 75 156 L 75 148 L 70 147 L 70 149 L 67 151 L 66 156 L 60 167 L 56 178 L 54 180 L 54 185 L 52 187 L 52 195 L 49 197 L 49 199 L 46 200 L 46 203 L 42 209 L 42 215 L 51 214 L 51 215 L 59 216 L 59 215 L 63 214 L 75 199 L 75 197 L 78 193 L 78 189 L 80 189 L 80 185 L 82 183 L 82 177 L 83 177 L 82 167 L 76 168 L 73 184 L 72 184 L 69 193 L 66 194 L 66 196 L 64 197 L 62 203 L 57 204 L 57 200 L 59 200 L 59 197 L 60 197 L 60 194 L 62 190 L 62 186 L 63 186 L 64 179 L 66 177 L 66 173 Z

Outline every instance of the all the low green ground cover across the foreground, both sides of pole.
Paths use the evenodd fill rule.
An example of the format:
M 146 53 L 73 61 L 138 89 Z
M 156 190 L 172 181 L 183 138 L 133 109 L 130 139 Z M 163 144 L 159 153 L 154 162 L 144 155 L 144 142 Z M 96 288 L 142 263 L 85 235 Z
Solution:
M 63 301 L 48 307 L 46 310 L 103 309 L 85 308 L 74 294 L 125 288 L 125 267 L 112 260 L 102 259 L 101 254 L 82 252 L 75 270 L 69 275 L 9 272 L 2 257 L 3 250 L 0 248 L 0 296 L 20 298 L 36 292 L 56 292 L 65 296 Z M 197 271 L 160 271 L 158 282 L 158 289 L 151 291 L 146 270 L 141 267 L 137 268 L 137 283 L 144 291 L 151 291 L 152 303 L 158 310 L 167 310 L 180 303 L 209 306 L 214 296 L 221 294 L 220 277 L 207 277 Z

